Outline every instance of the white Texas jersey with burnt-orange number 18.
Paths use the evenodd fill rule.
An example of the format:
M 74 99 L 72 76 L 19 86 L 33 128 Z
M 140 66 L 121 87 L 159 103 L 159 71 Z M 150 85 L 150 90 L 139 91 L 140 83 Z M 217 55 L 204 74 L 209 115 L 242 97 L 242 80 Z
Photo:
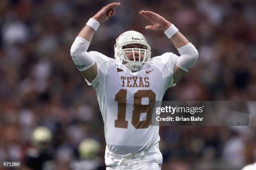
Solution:
M 89 52 L 96 60 L 97 91 L 110 152 L 125 155 L 156 145 L 159 126 L 151 126 L 152 107 L 166 89 L 174 86 L 173 70 L 178 56 L 168 52 L 153 57 L 141 70 L 132 72 L 122 63 L 99 52 Z

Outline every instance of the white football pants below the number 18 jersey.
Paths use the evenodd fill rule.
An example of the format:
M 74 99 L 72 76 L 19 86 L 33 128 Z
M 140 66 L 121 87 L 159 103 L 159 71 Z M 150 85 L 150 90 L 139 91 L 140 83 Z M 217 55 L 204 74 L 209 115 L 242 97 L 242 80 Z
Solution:
M 159 145 L 139 153 L 118 155 L 108 150 L 106 146 L 106 170 L 161 170 L 163 157 Z

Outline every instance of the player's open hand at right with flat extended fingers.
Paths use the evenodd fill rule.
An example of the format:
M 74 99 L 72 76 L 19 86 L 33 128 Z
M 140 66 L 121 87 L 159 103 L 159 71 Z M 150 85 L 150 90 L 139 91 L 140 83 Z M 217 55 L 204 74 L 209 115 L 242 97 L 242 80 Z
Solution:
M 153 24 L 146 26 L 147 30 L 166 31 L 172 25 L 172 23 L 167 21 L 164 17 L 151 11 L 141 10 L 139 13 Z

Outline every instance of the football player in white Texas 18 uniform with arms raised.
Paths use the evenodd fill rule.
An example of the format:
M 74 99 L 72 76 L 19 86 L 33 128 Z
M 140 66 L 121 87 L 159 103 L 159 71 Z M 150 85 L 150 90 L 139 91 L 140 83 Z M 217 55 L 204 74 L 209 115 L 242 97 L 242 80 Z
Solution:
M 139 32 L 127 31 L 115 42 L 115 60 L 87 49 L 100 23 L 115 15 L 114 2 L 88 20 L 71 47 L 71 56 L 88 85 L 95 88 L 104 121 L 107 170 L 160 170 L 159 126 L 151 126 L 155 101 L 161 101 L 195 63 L 194 45 L 169 21 L 151 11 L 140 15 L 163 30 L 180 56 L 166 52 L 151 59 L 151 47 Z

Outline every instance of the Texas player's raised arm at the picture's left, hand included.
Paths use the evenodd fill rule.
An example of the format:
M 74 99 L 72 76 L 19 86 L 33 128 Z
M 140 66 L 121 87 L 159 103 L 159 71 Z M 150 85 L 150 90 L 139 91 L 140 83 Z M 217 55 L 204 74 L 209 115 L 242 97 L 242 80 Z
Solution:
M 70 54 L 78 70 L 89 82 L 92 82 L 97 76 L 97 65 L 95 59 L 87 52 L 87 49 L 100 23 L 115 15 L 114 8 L 119 5 L 119 2 L 113 2 L 102 7 L 79 32 L 70 49 Z

